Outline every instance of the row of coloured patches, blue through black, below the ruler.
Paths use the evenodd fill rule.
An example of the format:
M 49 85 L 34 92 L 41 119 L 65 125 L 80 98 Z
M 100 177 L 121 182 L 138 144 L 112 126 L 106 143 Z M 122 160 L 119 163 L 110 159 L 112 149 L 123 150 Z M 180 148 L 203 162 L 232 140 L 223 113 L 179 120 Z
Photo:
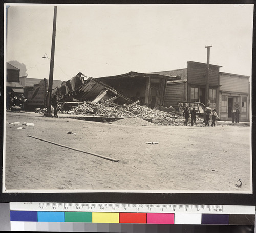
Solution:
M 254 215 L 10 211 L 11 222 L 252 225 Z

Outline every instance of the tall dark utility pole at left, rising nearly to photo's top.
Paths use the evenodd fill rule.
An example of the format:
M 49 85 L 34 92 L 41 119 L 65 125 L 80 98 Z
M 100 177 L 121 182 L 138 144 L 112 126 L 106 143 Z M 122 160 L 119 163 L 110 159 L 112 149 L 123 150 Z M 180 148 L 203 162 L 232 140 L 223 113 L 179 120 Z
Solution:
M 57 6 L 54 6 L 53 29 L 52 29 L 52 50 L 51 50 L 49 86 L 48 86 L 48 100 L 47 100 L 47 111 L 46 111 L 46 116 L 47 117 L 51 117 L 53 66 L 54 66 L 54 51 L 55 51 L 55 36 L 56 36 L 56 20 L 57 20 Z

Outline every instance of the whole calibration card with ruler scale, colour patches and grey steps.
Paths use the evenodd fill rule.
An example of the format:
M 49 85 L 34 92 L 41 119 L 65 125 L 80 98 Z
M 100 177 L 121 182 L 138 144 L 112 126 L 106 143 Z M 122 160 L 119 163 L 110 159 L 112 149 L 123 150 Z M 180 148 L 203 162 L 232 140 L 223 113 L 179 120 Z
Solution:
M 82 205 L 84 206 L 82 207 Z M 159 206 L 160 205 L 152 204 L 11 202 L 11 230 L 29 231 L 28 228 L 30 227 L 36 231 L 42 231 L 48 227 L 48 231 L 68 231 L 69 227 L 74 230 L 74 227 L 79 226 L 82 228 L 95 228 L 97 226 L 97 231 L 92 231 L 91 228 L 88 230 L 91 232 L 100 232 L 98 231 L 98 227 L 102 226 L 102 224 L 105 227 L 107 227 L 107 224 L 107 228 L 110 229 L 110 226 L 111 228 L 114 227 L 113 224 L 116 224 L 115 227 L 118 228 L 120 224 L 254 225 L 255 223 L 255 206 L 162 205 L 160 206 L 162 213 L 154 213 L 154 209 Z M 38 208 L 44 210 L 38 210 Z M 83 208 L 91 208 L 92 211 L 81 211 Z M 115 208 L 115 210 L 112 212 L 106 210 L 113 208 Z M 170 208 L 173 208 L 173 213 L 172 211 L 165 213 L 166 209 L 170 210 Z M 67 211 L 63 211 L 63 209 L 67 209 Z M 71 211 L 71 209 L 75 209 L 75 211 Z M 98 211 L 98 209 L 101 209 L 101 211 Z M 116 209 L 122 209 L 122 211 L 117 212 Z M 131 209 L 135 209 L 137 212 L 129 212 Z M 145 212 L 142 212 L 143 209 Z M 146 209 L 152 211 L 152 213 L 148 213 Z M 188 210 L 189 213 L 187 213 Z M 227 213 L 228 211 L 229 213 Z M 89 232 L 86 230 L 83 231 Z M 112 230 L 110 232 L 115 231 Z

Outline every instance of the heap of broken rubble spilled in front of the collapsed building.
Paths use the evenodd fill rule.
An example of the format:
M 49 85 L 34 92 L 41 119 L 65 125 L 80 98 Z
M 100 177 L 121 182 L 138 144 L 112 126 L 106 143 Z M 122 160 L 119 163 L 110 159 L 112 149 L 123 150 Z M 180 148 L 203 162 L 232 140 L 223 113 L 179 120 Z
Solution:
M 151 119 L 152 123 L 157 125 L 184 125 L 184 117 L 179 112 L 164 112 L 158 109 L 152 109 L 147 106 L 133 105 L 128 108 L 125 106 L 111 106 L 109 104 L 99 104 L 90 102 L 79 102 L 78 106 L 74 106 L 72 109 L 65 111 L 60 106 L 60 111 L 66 114 L 75 115 L 97 115 L 102 117 L 111 118 L 142 118 Z M 190 124 L 190 121 L 188 122 Z M 197 126 L 203 126 L 204 122 L 202 118 L 197 117 Z

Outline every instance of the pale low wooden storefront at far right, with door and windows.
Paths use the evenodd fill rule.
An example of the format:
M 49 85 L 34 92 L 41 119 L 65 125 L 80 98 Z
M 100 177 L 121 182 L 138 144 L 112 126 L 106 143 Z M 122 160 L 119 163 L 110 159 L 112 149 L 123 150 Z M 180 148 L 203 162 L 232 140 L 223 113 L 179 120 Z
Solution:
M 239 109 L 240 120 L 249 121 L 250 81 L 249 76 L 220 72 L 219 117 L 231 120 L 232 111 Z

